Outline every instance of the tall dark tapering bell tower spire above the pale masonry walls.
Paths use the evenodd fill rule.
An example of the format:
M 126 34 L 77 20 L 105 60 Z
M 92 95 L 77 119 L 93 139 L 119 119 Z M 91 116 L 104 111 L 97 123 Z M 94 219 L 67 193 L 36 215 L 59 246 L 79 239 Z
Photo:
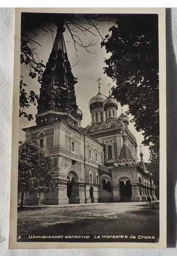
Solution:
M 57 34 L 42 77 L 36 124 L 63 119 L 77 128 L 78 106 L 74 89 L 77 79 L 68 60 L 64 31 L 63 23 L 57 24 Z

